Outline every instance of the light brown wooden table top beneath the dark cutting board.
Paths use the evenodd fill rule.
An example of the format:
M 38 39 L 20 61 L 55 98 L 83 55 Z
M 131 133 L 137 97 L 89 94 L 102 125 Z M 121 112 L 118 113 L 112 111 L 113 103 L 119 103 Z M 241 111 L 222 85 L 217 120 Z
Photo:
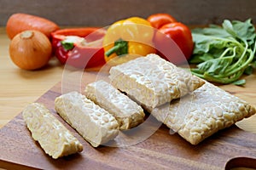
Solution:
M 63 66 L 53 58 L 49 65 L 39 71 L 24 71 L 9 58 L 9 38 L 5 28 L 0 28 L 0 127 L 17 116 L 23 108 L 35 101 L 55 83 L 61 81 Z M 255 72 L 255 71 L 254 71 Z M 233 85 L 223 86 L 228 91 L 238 91 L 238 97 L 256 105 L 256 74 L 248 77 L 244 88 Z M 230 90 L 230 88 L 232 90 Z M 240 93 L 241 92 L 241 93 Z M 245 94 L 245 95 L 244 95 Z M 242 129 L 256 133 L 256 116 L 236 123 Z

